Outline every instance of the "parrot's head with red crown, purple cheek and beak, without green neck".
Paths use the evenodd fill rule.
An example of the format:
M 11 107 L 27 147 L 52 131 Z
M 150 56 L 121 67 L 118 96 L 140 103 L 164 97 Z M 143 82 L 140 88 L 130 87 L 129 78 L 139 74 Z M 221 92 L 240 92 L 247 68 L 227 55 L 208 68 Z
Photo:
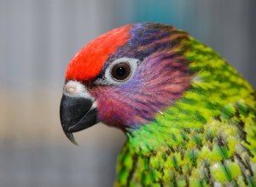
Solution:
M 61 125 L 67 138 L 97 122 L 125 130 L 163 115 L 189 88 L 187 34 L 172 26 L 123 26 L 96 38 L 67 67 Z

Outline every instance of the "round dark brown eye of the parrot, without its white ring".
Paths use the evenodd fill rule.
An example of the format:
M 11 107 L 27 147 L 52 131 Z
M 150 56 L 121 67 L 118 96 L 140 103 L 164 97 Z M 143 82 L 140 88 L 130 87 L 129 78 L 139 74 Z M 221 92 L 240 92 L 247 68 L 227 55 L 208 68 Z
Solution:
M 131 73 L 131 67 L 128 63 L 121 62 L 119 64 L 113 65 L 111 75 L 114 79 L 123 81 L 125 78 L 129 77 Z

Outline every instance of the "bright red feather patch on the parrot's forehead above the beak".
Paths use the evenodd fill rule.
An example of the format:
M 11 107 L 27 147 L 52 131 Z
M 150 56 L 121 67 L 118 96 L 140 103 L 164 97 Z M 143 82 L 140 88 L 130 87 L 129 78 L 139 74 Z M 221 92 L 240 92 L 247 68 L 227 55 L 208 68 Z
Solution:
M 114 54 L 119 46 L 123 46 L 130 37 L 131 25 L 122 26 L 108 31 L 84 46 L 70 60 L 67 71 L 67 80 L 86 81 L 96 77 L 109 55 Z

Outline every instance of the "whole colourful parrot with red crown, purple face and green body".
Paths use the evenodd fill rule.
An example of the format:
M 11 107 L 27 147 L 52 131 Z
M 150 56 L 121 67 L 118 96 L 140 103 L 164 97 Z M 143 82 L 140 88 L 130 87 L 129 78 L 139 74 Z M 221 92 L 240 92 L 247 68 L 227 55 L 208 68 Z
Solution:
M 114 186 L 256 186 L 256 93 L 186 31 L 143 22 L 88 42 L 70 60 L 60 105 L 73 133 L 125 133 Z

